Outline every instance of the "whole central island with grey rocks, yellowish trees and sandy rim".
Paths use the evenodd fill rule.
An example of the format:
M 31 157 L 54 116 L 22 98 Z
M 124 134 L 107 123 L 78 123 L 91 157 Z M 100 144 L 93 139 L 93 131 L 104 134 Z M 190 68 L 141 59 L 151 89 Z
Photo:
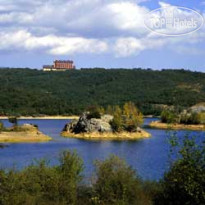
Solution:
M 140 128 L 143 123 L 142 113 L 131 102 L 110 107 L 91 108 L 84 112 L 78 120 L 66 124 L 61 135 L 63 137 L 87 140 L 138 140 L 151 135 Z

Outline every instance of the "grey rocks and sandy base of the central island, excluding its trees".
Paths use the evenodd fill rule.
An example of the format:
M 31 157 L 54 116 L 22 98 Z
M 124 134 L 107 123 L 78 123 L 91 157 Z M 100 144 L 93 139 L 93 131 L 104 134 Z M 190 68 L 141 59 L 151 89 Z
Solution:
M 110 121 L 112 115 L 102 115 L 98 118 L 90 118 L 89 113 L 83 113 L 79 120 L 73 120 L 66 124 L 61 136 L 86 140 L 138 140 L 151 137 L 141 128 L 135 132 L 113 132 Z

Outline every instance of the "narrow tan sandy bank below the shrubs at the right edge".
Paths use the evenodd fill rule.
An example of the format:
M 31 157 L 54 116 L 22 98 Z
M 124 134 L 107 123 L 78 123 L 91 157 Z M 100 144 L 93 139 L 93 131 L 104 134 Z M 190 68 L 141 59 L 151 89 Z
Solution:
M 149 128 L 166 129 L 166 130 L 192 130 L 192 131 L 205 131 L 205 125 L 185 125 L 185 124 L 167 124 L 160 121 L 153 121 Z

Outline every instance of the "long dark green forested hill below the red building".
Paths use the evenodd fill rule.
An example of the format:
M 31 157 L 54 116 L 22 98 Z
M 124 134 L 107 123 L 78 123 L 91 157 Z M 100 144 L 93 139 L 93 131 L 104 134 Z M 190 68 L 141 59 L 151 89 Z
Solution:
M 205 102 L 205 73 L 184 70 L 0 69 L 1 115 L 79 114 L 91 105 L 134 102 L 144 114 L 158 104 Z

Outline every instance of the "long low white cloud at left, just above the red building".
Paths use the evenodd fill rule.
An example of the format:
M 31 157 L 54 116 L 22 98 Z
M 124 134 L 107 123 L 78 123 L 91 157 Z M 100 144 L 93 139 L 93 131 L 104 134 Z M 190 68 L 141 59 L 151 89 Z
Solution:
M 11 33 L 0 33 L 0 50 L 38 50 L 45 49 L 53 55 L 66 55 L 73 53 L 102 53 L 107 49 L 107 44 L 96 39 L 82 37 L 59 37 L 47 35 L 33 36 L 31 33 L 20 30 Z

